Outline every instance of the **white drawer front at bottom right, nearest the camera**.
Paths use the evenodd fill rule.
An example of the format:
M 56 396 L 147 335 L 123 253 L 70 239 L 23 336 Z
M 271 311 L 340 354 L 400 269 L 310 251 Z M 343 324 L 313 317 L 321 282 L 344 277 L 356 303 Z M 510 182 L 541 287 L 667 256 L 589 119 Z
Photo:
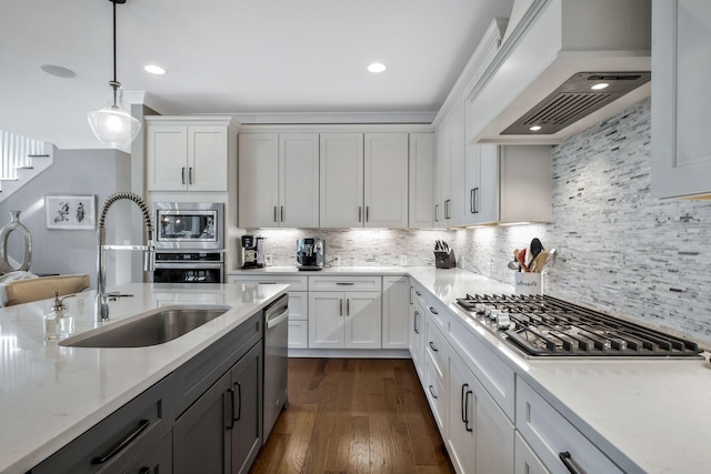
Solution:
M 515 426 L 551 473 L 622 473 L 608 456 L 520 377 Z

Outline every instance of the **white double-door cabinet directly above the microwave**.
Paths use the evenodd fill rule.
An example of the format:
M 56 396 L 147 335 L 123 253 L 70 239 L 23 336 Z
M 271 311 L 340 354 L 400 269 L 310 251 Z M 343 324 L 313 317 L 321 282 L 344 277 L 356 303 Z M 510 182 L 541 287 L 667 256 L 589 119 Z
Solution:
M 231 119 L 147 117 L 149 191 L 228 190 L 228 161 L 236 153 Z

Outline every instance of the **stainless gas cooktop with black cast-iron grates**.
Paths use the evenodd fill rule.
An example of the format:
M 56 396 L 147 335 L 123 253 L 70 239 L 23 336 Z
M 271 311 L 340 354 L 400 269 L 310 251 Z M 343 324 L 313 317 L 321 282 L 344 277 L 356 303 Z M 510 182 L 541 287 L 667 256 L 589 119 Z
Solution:
M 697 343 L 548 295 L 470 295 L 457 303 L 525 356 L 700 357 Z

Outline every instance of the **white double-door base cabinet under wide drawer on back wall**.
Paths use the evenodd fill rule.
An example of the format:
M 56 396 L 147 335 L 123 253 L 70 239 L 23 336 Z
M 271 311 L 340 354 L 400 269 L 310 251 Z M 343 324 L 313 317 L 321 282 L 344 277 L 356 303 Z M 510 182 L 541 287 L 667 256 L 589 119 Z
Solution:
M 309 292 L 309 349 L 380 349 L 381 292 Z

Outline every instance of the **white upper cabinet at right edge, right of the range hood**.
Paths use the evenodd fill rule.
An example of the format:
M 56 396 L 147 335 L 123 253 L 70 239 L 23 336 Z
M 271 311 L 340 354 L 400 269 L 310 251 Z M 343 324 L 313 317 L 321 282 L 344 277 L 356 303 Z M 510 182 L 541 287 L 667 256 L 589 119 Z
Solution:
M 654 0 L 652 31 L 652 195 L 711 194 L 711 2 Z

